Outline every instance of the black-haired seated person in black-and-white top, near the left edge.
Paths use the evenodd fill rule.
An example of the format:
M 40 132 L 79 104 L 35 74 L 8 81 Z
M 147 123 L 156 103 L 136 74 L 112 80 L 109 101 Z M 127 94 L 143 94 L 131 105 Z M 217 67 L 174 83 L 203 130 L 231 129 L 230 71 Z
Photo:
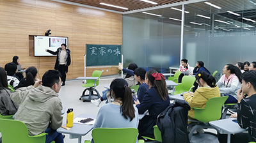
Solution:
M 4 70 L 7 72 L 8 84 L 16 89 L 20 83 L 19 77 L 15 75 L 17 72 L 17 65 L 15 63 L 7 63 L 4 66 Z

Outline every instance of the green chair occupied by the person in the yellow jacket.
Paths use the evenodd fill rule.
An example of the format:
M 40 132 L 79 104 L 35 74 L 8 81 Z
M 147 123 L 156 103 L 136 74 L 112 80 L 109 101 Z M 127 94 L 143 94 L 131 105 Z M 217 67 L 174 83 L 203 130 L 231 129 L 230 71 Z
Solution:
M 218 129 L 211 126 L 209 122 L 220 119 L 222 107 L 226 102 L 227 98 L 228 96 L 210 98 L 206 102 L 205 109 L 200 109 L 196 107 L 193 108 L 196 121 L 189 119 L 189 121 L 191 121 L 192 123 L 189 124 L 188 130 L 193 126 L 192 130 L 188 135 L 189 140 L 191 140 L 193 132 L 195 132 L 197 128 L 214 128 L 218 131 Z

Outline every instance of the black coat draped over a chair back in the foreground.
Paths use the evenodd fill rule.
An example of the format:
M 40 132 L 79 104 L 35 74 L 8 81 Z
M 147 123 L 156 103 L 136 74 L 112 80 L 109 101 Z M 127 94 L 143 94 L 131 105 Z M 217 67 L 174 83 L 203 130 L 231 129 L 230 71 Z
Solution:
M 177 101 L 175 104 L 171 103 L 159 114 L 157 127 L 161 131 L 163 143 L 189 142 L 188 110 L 190 110 L 188 102 Z

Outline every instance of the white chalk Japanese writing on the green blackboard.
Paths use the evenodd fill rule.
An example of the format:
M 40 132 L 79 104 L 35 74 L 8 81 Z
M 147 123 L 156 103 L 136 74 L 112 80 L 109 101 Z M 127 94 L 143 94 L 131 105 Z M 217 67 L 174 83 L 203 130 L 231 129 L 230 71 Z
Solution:
M 106 49 L 106 47 L 100 47 L 100 48 L 97 48 L 97 47 L 91 47 L 90 48 L 92 54 L 91 55 L 101 55 L 101 56 L 104 56 L 104 54 L 107 54 L 108 53 L 113 53 L 114 56 L 118 56 L 121 54 L 120 50 L 118 48 L 116 49 Z

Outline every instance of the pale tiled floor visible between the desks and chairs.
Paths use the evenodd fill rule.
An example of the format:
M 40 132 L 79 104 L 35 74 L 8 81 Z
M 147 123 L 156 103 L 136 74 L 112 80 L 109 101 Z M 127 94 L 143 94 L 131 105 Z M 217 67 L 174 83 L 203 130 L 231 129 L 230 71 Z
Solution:
M 102 91 L 105 90 L 104 86 L 109 86 L 111 81 L 116 78 L 120 78 L 120 76 L 113 75 L 107 77 L 100 77 L 100 84 L 99 86 L 97 86 L 97 90 L 99 91 L 99 93 L 102 94 Z M 97 112 L 99 111 L 100 107 L 102 107 L 102 105 L 104 105 L 105 103 L 102 102 L 100 104 L 100 107 L 96 107 L 91 102 L 82 102 L 81 100 L 79 100 L 79 97 L 81 96 L 84 90 L 84 87 L 82 87 L 81 84 L 83 84 L 82 80 L 68 80 L 66 82 L 66 86 L 61 87 L 59 95 L 61 102 L 63 103 L 63 107 L 65 107 L 66 110 L 68 108 L 73 108 L 74 117 L 79 116 L 79 114 L 97 115 Z M 63 115 L 63 124 L 65 124 L 66 121 L 67 113 Z M 212 129 L 205 131 L 216 133 L 216 130 Z M 92 132 L 82 137 L 82 142 L 84 142 L 84 140 L 91 140 L 91 133 Z M 77 139 L 69 139 L 69 135 L 66 135 L 64 141 L 67 143 L 76 143 Z

